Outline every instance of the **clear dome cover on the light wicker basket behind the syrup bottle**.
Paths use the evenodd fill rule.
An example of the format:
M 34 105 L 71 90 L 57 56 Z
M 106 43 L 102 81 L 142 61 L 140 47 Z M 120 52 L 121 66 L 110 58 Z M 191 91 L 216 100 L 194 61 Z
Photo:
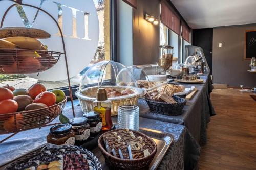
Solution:
M 84 72 L 79 93 L 79 98 L 95 99 L 98 88 L 105 88 L 108 92 L 108 99 L 125 98 L 138 94 L 137 82 L 129 68 L 114 61 L 101 61 L 91 66 Z M 93 89 L 93 90 L 91 90 Z M 123 95 L 123 90 L 131 89 L 133 93 Z M 119 91 L 118 95 L 109 95 L 109 92 Z M 117 93 L 117 92 L 116 92 Z

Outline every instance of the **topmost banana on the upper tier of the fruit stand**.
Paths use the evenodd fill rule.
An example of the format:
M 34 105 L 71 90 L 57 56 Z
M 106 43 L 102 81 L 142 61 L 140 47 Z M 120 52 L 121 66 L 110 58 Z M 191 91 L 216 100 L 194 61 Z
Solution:
M 26 27 L 5 27 L 0 28 L 0 38 L 7 37 L 31 37 L 31 38 L 50 38 L 51 35 L 40 29 L 26 28 Z

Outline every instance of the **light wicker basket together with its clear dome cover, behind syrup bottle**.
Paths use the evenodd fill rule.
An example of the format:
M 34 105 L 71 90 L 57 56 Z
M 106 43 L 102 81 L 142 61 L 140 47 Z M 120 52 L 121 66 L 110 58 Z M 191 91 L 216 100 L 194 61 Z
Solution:
M 98 88 L 105 88 L 111 101 L 111 115 L 117 115 L 118 106 L 136 105 L 141 95 L 136 79 L 124 65 L 114 61 L 101 61 L 91 66 L 82 76 L 75 92 L 82 111 L 93 110 Z

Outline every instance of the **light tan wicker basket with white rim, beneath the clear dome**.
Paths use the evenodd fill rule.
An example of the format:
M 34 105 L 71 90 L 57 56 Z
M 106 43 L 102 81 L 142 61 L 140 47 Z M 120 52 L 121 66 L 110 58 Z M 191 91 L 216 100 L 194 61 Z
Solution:
M 134 87 L 127 86 L 102 86 L 102 88 L 115 88 L 118 91 L 122 91 L 124 89 L 131 89 L 135 93 L 124 95 L 116 98 L 108 98 L 111 101 L 111 116 L 117 115 L 118 106 L 122 105 L 136 105 L 140 96 L 140 93 L 137 92 L 137 89 Z M 93 111 L 93 101 L 96 100 L 98 86 L 89 87 L 84 89 L 82 92 L 76 91 L 75 95 L 77 96 L 80 105 L 82 107 L 82 111 L 84 113 L 88 111 Z

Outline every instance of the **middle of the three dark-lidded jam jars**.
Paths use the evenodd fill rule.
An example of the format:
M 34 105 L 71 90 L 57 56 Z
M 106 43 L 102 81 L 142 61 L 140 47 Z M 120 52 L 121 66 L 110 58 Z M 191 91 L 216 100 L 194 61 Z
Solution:
M 72 130 L 75 132 L 75 141 L 83 142 L 86 141 L 90 136 L 90 125 L 87 122 L 86 117 L 75 117 L 69 120 L 72 125 Z

